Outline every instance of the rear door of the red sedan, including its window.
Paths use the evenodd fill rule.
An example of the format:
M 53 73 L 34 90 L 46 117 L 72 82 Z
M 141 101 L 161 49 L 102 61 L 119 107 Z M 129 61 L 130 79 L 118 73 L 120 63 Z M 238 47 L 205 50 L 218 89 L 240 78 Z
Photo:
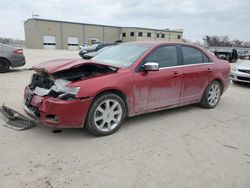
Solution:
M 180 46 L 183 63 L 183 84 L 180 104 L 199 102 L 212 74 L 213 63 L 198 48 Z

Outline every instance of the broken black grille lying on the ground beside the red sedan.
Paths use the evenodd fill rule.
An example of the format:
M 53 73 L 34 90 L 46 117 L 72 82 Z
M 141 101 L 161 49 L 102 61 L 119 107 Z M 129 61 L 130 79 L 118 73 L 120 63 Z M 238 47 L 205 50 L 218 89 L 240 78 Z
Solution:
M 0 107 L 0 119 L 3 121 L 3 126 L 18 131 L 29 129 L 35 125 L 34 121 L 4 105 Z

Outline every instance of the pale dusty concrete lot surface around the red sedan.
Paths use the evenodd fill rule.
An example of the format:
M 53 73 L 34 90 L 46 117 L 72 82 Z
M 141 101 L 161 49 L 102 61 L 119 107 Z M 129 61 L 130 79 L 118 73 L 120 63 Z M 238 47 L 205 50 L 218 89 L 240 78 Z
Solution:
M 78 57 L 25 50 L 27 65 Z M 0 75 L 0 104 L 22 110 L 33 73 Z M 129 118 L 107 137 L 82 129 L 0 126 L 0 187 L 250 187 L 250 87 L 231 84 L 217 108 L 196 105 Z

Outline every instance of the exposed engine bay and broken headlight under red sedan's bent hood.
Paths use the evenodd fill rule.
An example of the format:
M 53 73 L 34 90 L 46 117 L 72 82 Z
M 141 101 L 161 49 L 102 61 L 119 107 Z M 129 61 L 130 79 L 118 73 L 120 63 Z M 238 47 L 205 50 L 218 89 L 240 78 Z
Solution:
M 39 96 L 50 96 L 63 100 L 75 99 L 79 87 L 67 87 L 71 82 L 97 77 L 117 71 L 117 68 L 105 65 L 83 65 L 55 72 L 51 75 L 38 72 L 32 75 L 29 88 Z

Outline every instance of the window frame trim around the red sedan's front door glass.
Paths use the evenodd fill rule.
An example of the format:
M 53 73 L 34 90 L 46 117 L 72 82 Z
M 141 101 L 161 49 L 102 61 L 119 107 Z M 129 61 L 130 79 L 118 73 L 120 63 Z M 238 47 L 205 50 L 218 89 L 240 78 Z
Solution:
M 135 68 L 135 72 L 137 73 L 140 73 L 140 72 L 143 72 L 144 70 L 142 69 L 142 65 L 145 64 L 145 60 L 147 59 L 148 56 L 150 56 L 155 50 L 161 48 L 161 47 L 166 47 L 166 46 L 175 46 L 176 47 L 176 53 L 177 53 L 177 65 L 176 66 L 170 66 L 170 67 L 179 67 L 181 66 L 181 54 L 179 52 L 179 49 L 178 49 L 178 45 L 177 44 L 162 44 L 162 45 L 159 45 L 157 47 L 155 47 L 154 49 L 151 50 L 151 52 L 149 52 L 149 54 L 147 54 L 143 60 L 140 62 L 139 65 L 137 65 L 137 67 Z M 159 70 L 163 70 L 165 68 L 170 68 L 170 67 L 161 67 L 159 68 Z

